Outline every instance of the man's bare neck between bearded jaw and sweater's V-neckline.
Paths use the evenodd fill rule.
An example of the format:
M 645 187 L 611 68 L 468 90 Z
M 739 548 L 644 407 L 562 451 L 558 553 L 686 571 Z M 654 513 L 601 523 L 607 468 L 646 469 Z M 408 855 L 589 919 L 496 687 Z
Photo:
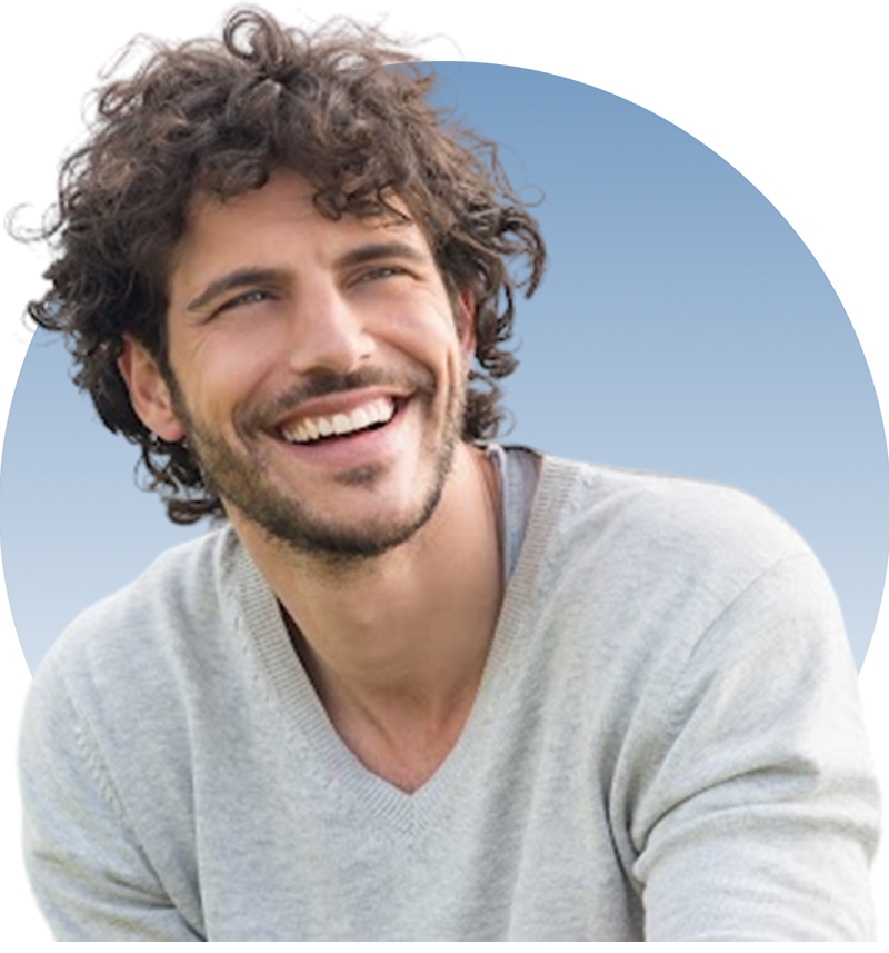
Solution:
M 475 695 L 503 579 L 496 473 L 481 450 L 465 449 L 417 538 L 348 585 L 288 573 L 298 589 L 273 586 L 328 711 L 440 725 Z

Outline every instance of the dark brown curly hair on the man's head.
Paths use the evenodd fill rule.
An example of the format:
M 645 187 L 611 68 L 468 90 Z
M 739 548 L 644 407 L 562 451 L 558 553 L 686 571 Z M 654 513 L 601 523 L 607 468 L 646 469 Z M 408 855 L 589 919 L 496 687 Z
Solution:
M 505 411 L 495 378 L 518 366 L 501 347 L 512 336 L 513 288 L 527 286 L 530 298 L 546 267 L 539 225 L 515 196 L 497 146 L 459 123 L 446 127 L 452 110 L 426 101 L 434 73 L 416 63 L 391 69 L 367 41 L 363 50 L 318 43 L 279 23 L 238 12 L 221 31 L 190 39 L 190 52 L 180 44 L 161 58 L 160 69 L 143 62 L 110 82 L 92 121 L 62 151 L 57 195 L 43 212 L 51 222 L 47 290 L 30 316 L 64 332 L 73 384 L 111 433 L 141 447 L 134 482 L 159 493 L 178 526 L 227 517 L 188 441 L 160 440 L 134 413 L 118 358 L 128 334 L 181 398 L 168 354 L 168 276 L 197 192 L 226 201 L 288 168 L 311 183 L 316 209 L 330 220 L 383 211 L 416 220 L 451 306 L 465 289 L 476 304 L 483 370 L 470 369 L 469 380 L 488 390 L 467 385 L 463 440 L 499 433 Z M 476 155 L 487 149 L 490 171 Z M 387 202 L 390 190 L 413 219 Z M 518 255 L 530 275 L 516 286 L 506 259 Z M 148 486 L 139 485 L 140 465 Z

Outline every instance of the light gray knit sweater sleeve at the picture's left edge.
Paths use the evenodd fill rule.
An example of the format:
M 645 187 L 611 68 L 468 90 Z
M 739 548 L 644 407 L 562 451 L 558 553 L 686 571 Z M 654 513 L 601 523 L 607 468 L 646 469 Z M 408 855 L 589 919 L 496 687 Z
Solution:
M 89 940 L 83 949 L 121 935 L 170 942 L 162 949 L 206 949 L 127 823 L 64 681 L 47 666 L 38 668 L 22 697 L 14 766 L 24 881 L 51 934 L 66 942 Z

